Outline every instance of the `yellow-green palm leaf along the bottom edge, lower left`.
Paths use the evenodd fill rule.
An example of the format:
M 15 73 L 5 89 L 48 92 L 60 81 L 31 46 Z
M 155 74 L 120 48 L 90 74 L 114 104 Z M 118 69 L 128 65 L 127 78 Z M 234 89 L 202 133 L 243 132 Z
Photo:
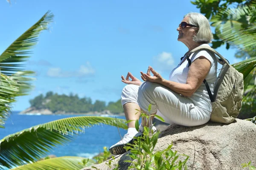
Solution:
M 95 164 L 95 161 L 87 159 L 86 164 L 82 164 L 85 158 L 75 156 L 64 156 L 37 161 L 32 164 L 22 165 L 11 170 L 81 170 L 84 167 Z

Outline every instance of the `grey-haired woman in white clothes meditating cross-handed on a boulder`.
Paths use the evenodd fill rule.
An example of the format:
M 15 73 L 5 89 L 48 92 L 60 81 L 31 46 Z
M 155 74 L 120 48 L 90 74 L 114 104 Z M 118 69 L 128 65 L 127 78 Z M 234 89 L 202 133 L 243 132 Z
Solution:
M 151 110 L 148 114 L 160 115 L 167 123 L 198 126 L 209 121 L 212 105 L 203 81 L 206 79 L 213 91 L 217 78 L 215 55 L 201 50 L 189 56 L 190 66 L 186 60 L 186 56 L 192 49 L 198 46 L 209 46 L 208 43 L 212 40 L 209 21 L 202 14 L 189 13 L 179 24 L 177 31 L 178 41 L 184 43 L 189 51 L 172 70 L 169 80 L 164 79 L 151 66 L 148 67 L 147 73 L 140 72 L 144 83 L 130 72 L 126 78 L 122 76 L 122 82 L 128 84 L 121 95 L 127 121 L 139 119 L 140 114 L 135 114 L 136 109 L 148 112 L 149 104 L 151 104 Z M 143 132 L 143 125 L 140 125 L 139 133 Z M 156 132 L 153 124 L 149 127 Z M 116 155 L 125 153 L 126 150 L 123 147 L 131 143 L 133 137 L 139 133 L 135 128 L 135 121 L 129 122 L 128 133 L 121 141 L 110 147 L 110 152 Z

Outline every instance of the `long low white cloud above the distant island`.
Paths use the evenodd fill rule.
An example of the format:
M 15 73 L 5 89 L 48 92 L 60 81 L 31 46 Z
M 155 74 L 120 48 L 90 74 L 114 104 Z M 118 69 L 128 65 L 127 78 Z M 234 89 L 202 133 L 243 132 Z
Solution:
M 81 65 L 79 70 L 76 71 L 64 71 L 61 68 L 49 68 L 47 71 L 47 76 L 55 78 L 69 78 L 69 77 L 85 77 L 88 75 L 93 75 L 95 70 L 87 62 L 85 65 Z

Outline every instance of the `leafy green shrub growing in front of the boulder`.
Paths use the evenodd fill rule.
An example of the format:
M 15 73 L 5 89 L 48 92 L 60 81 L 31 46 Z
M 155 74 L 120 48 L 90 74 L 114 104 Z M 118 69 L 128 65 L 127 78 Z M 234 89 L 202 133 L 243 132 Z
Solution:
M 151 105 L 148 107 L 150 111 Z M 148 121 L 154 115 L 141 114 L 141 117 L 146 118 Z M 155 115 L 157 116 L 157 115 Z M 162 119 L 160 116 L 158 118 Z M 147 124 L 148 124 L 147 121 Z M 136 120 L 136 129 L 139 130 L 139 122 Z M 126 162 L 131 163 L 129 169 L 135 170 L 186 170 L 186 162 L 189 156 L 177 154 L 177 151 L 172 151 L 172 144 L 170 144 L 165 150 L 154 152 L 154 147 L 157 144 L 159 131 L 152 135 L 150 138 L 150 132 L 148 127 L 144 127 L 143 135 L 135 138 L 133 144 L 126 147 L 126 150 L 130 150 L 129 157 L 131 160 Z M 180 156 L 184 157 L 184 160 L 178 160 Z M 135 161 L 132 161 L 135 160 Z

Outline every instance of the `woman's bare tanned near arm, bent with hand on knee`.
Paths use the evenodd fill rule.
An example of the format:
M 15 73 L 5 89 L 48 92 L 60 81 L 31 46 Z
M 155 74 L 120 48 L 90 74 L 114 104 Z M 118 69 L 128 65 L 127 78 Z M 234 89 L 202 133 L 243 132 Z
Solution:
M 209 73 L 210 67 L 211 62 L 204 56 L 200 56 L 195 59 L 189 67 L 186 84 L 166 80 L 150 66 L 148 67 L 147 74 L 141 72 L 141 75 L 145 80 L 162 84 L 174 92 L 190 97 L 204 81 Z M 148 74 L 149 70 L 154 74 L 154 76 L 150 76 L 150 74 Z

